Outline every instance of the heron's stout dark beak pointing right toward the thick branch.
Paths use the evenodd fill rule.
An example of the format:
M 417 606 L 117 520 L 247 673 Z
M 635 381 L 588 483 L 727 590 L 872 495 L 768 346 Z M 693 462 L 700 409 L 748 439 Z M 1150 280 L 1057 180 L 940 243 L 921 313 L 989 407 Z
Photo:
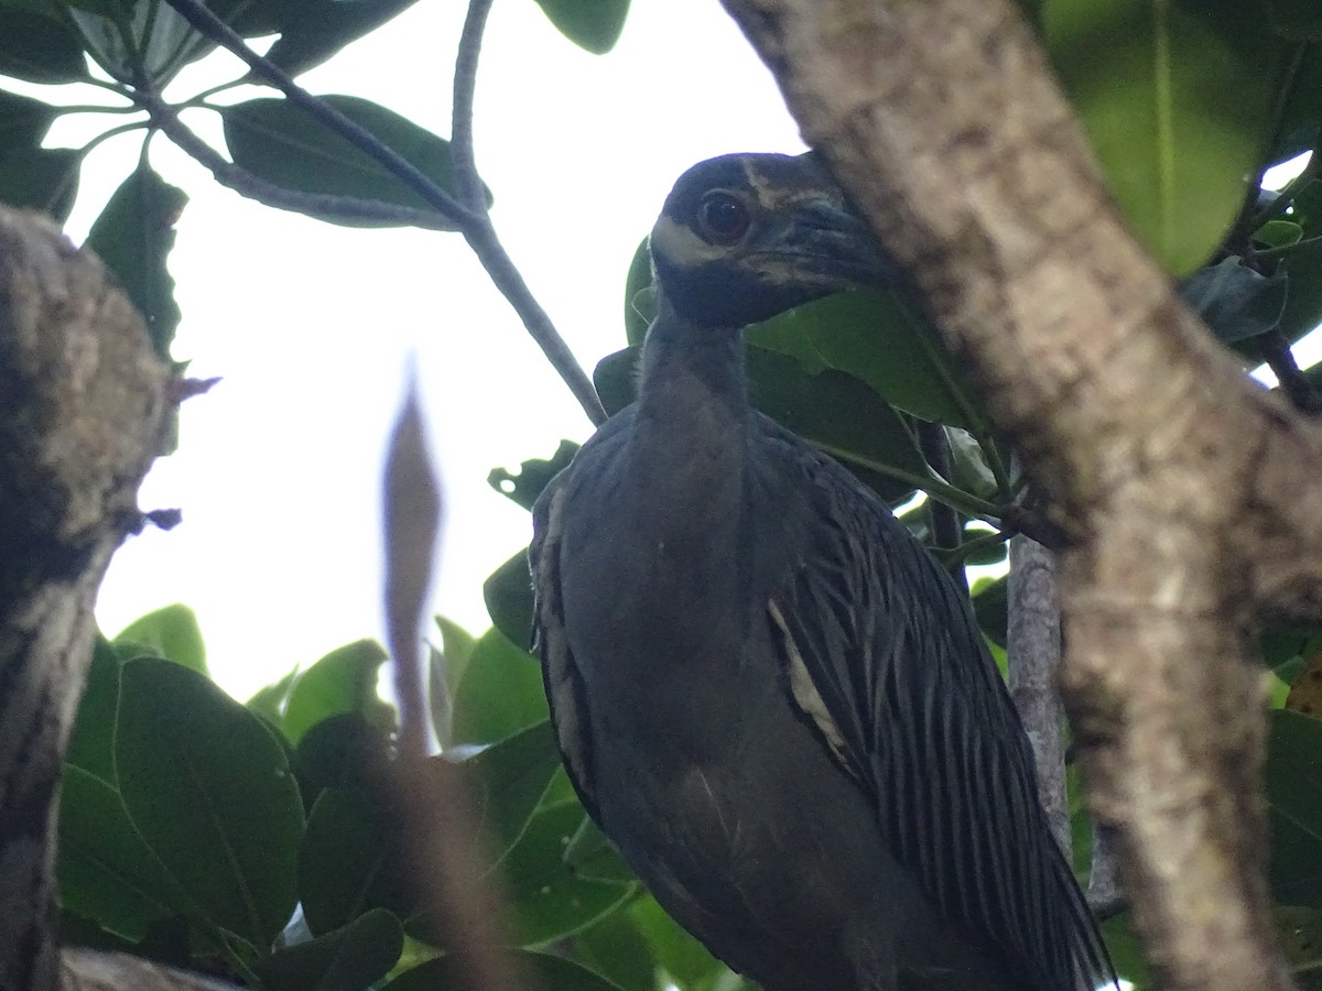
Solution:
M 863 219 L 828 200 L 798 206 L 777 235 L 776 254 L 824 284 L 846 289 L 898 279 L 895 263 Z

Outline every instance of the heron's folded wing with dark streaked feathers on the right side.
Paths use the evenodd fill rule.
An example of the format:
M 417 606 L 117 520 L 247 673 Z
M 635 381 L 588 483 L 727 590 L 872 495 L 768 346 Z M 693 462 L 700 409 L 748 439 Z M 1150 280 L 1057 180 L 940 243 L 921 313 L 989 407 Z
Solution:
M 1105 983 L 1105 949 L 961 589 L 842 468 L 808 472 L 813 556 L 768 606 L 796 702 L 947 916 L 1038 971 L 1026 987 Z

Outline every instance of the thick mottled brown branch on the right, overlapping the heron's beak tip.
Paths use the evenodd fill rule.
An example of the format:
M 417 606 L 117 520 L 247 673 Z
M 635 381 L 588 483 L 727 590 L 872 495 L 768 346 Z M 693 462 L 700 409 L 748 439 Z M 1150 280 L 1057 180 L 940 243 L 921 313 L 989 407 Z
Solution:
M 1266 616 L 1322 614 L 1322 436 L 1126 231 L 1007 0 L 723 0 L 976 370 L 1071 547 L 1066 704 L 1169 988 L 1286 988 Z

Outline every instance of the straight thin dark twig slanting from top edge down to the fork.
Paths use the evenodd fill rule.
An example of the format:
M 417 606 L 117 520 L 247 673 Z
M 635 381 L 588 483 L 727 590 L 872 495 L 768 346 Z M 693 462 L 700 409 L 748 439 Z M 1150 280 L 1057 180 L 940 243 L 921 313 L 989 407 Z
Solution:
M 412 163 L 382 144 L 370 131 L 356 124 L 329 103 L 317 99 L 300 87 L 278 65 L 256 54 L 242 37 L 212 13 L 201 0 L 165 0 L 165 3 L 175 8 L 180 16 L 188 20 L 202 34 L 238 55 L 256 77 L 283 92 L 291 103 L 387 168 L 393 176 L 418 193 L 436 211 L 460 226 L 473 222 L 475 217 L 471 210 L 460 206 L 449 193 L 438 186 Z

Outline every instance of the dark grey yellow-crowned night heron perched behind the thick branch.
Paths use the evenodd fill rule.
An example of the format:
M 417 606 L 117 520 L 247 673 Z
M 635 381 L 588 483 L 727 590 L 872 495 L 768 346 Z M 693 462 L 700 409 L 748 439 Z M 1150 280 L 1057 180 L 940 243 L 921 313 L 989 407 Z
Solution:
M 746 399 L 739 328 L 884 280 L 810 156 L 690 169 L 637 402 L 539 499 L 564 764 L 657 900 L 773 991 L 1110 980 L 961 591 Z

